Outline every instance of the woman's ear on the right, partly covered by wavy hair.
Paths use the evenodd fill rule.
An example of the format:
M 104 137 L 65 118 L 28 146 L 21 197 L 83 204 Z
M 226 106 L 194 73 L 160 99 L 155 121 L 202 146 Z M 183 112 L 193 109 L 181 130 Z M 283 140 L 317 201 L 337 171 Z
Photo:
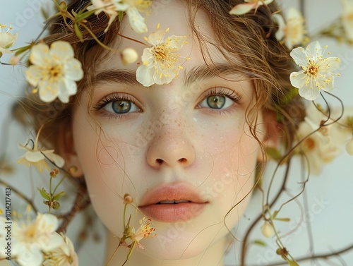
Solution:
M 282 135 L 282 128 L 277 122 L 275 111 L 265 109 L 263 116 L 263 145 L 265 147 L 272 147 L 276 149 L 280 136 Z M 262 152 L 258 152 L 258 161 L 263 162 Z

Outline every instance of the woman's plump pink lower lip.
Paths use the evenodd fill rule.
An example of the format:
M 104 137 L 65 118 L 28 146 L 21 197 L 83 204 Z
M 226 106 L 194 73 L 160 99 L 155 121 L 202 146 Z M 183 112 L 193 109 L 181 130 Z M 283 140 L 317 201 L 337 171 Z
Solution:
M 182 222 L 195 218 L 205 203 L 184 202 L 178 204 L 153 204 L 139 207 L 146 217 L 159 222 Z

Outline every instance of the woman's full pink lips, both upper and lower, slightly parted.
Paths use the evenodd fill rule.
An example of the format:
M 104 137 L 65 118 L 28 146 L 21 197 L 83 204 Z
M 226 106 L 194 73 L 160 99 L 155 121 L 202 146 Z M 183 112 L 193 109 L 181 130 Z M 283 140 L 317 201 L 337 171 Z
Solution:
M 189 200 L 177 204 L 157 204 L 162 200 Z M 195 218 L 205 208 L 203 200 L 186 183 L 162 184 L 143 195 L 138 208 L 147 217 L 159 222 L 182 222 Z

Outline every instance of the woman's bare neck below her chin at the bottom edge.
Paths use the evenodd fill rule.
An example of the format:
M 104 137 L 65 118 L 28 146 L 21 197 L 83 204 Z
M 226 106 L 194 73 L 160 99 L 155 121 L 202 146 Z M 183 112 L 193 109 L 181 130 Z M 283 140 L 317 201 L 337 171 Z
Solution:
M 105 256 L 105 266 L 121 266 L 126 260 L 128 248 L 121 246 L 113 256 L 119 240 L 114 237 L 110 232 L 107 236 L 107 253 Z M 223 258 L 225 255 L 225 240 L 218 241 L 213 246 L 210 246 L 204 253 L 197 255 L 193 258 L 185 260 L 159 260 L 152 258 L 144 253 L 143 250 L 138 250 L 136 246 L 131 254 L 131 257 L 126 262 L 129 265 L 143 265 L 143 266 L 223 266 Z M 111 259 L 112 258 L 112 259 Z M 111 260 L 110 260 L 111 259 Z M 107 262 L 110 260 L 109 265 Z

